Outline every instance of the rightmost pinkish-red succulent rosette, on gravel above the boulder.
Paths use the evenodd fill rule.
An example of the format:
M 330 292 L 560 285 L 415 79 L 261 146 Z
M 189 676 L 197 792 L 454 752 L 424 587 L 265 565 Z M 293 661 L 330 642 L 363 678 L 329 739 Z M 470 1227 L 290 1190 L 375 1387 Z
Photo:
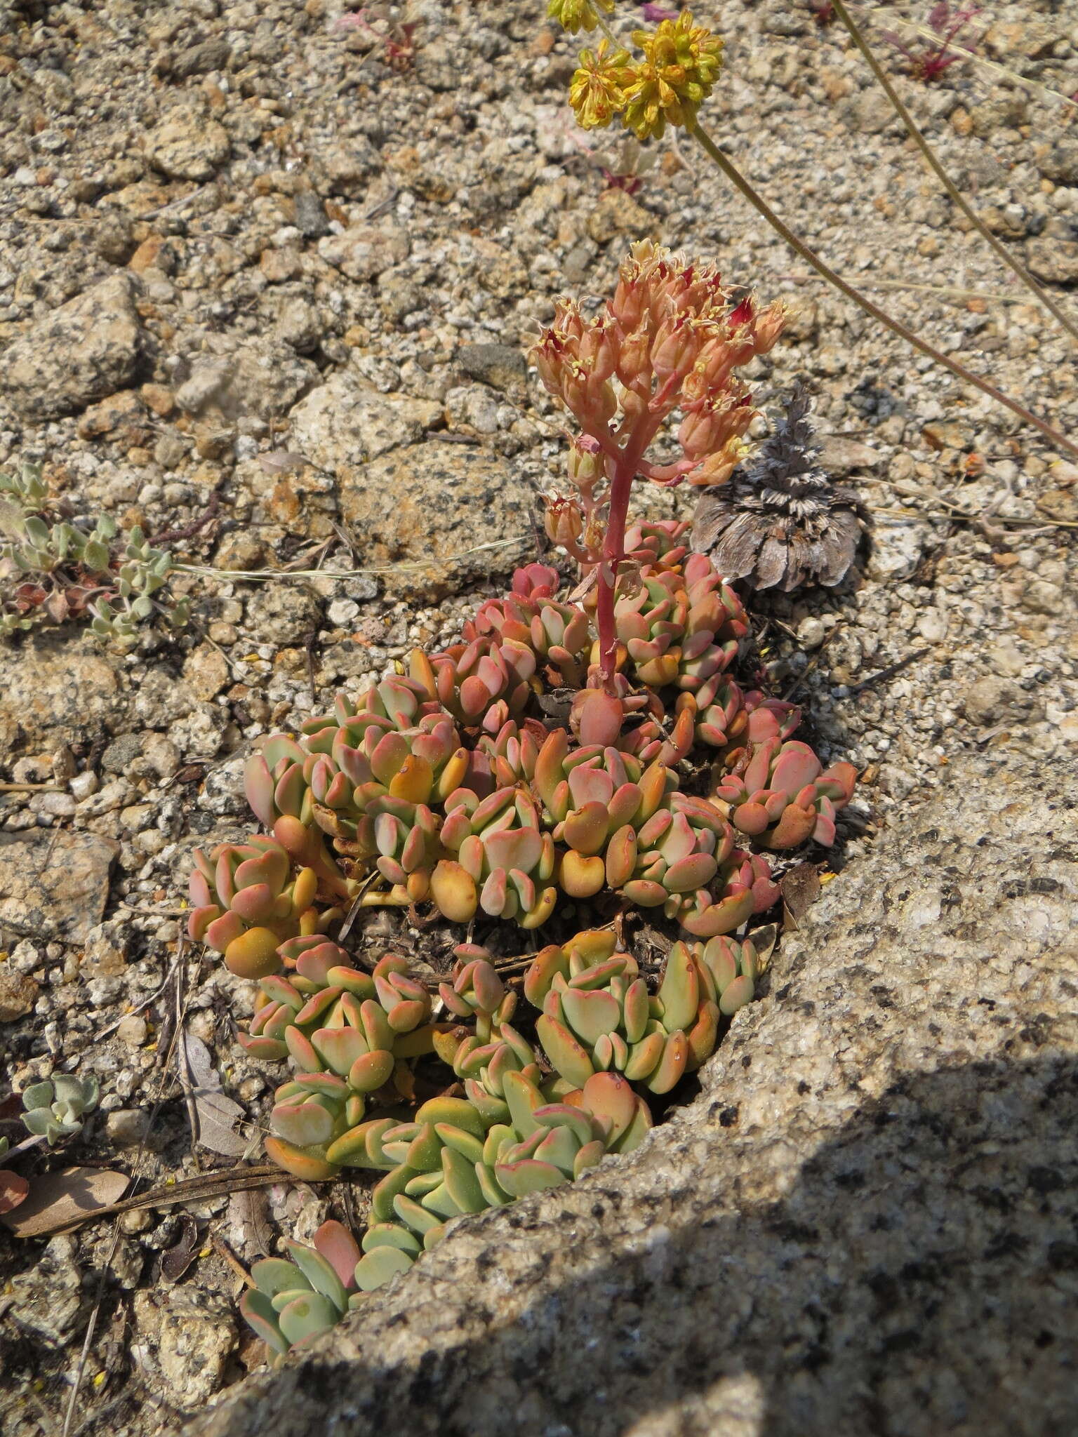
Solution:
M 776 734 L 739 750 L 711 802 L 763 848 L 796 848 L 806 838 L 831 845 L 835 813 L 849 802 L 855 779 L 851 763 L 824 770 L 806 743 L 783 743 Z

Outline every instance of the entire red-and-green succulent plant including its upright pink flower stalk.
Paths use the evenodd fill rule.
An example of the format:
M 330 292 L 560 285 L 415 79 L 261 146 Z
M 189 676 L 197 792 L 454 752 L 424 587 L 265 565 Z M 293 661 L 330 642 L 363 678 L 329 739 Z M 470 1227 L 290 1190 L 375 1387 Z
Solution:
M 582 572 L 517 569 L 457 642 L 270 734 L 244 776 L 263 831 L 194 854 L 188 931 L 257 983 L 247 1055 L 290 1068 L 269 1157 L 309 1181 L 384 1173 L 361 1246 L 331 1227 L 257 1265 L 244 1311 L 276 1352 L 447 1223 L 641 1142 L 650 1101 L 755 994 L 768 854 L 835 841 L 854 770 L 825 769 L 792 737 L 801 711 L 739 670 L 740 595 L 687 523 L 627 522 L 637 474 L 729 474 L 755 414 L 734 371 L 782 322 L 650 244 L 595 318 L 563 303 L 536 364 L 581 433 L 548 530 Z M 678 453 L 653 461 L 674 411 Z M 467 925 L 437 992 L 402 954 L 368 971 L 342 946 L 371 907 Z M 658 970 L 624 937 L 644 912 Z M 497 960 L 499 924 L 510 953 L 556 941 Z

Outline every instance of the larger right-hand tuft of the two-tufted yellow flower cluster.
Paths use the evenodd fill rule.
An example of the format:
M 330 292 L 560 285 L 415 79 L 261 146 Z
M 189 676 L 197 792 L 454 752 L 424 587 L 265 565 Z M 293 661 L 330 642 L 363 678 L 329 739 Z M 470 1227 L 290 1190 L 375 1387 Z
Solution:
M 658 138 L 667 122 L 693 129 L 722 69 L 722 39 L 693 24 L 688 10 L 654 30 L 635 30 L 632 39 L 644 59 L 625 83 L 621 122 L 638 139 Z

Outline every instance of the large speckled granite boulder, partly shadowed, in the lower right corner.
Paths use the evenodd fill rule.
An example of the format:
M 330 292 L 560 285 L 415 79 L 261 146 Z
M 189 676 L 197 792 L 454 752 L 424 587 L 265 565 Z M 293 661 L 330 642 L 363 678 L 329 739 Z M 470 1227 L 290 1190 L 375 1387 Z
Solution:
M 954 762 L 635 1154 L 461 1220 L 198 1437 L 1074 1430 L 1078 779 L 1033 777 Z

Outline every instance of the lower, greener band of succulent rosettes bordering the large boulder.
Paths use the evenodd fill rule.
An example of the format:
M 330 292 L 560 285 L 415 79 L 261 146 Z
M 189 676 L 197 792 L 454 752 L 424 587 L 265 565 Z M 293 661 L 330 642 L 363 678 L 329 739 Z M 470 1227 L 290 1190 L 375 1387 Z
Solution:
M 653 1122 L 647 1094 L 670 1092 L 710 1056 L 759 970 L 747 938 L 677 943 L 653 993 L 611 930 L 578 933 L 542 948 L 525 974 L 539 1049 L 510 1026 L 517 994 L 483 950 L 457 953 L 438 989 L 454 1025 L 428 1022 L 431 996 L 402 958 L 387 956 L 365 974 L 325 940 L 285 944 L 289 980 L 262 980 L 264 1002 L 241 1040 L 254 1056 L 287 1053 L 299 1069 L 276 1094 L 270 1157 L 310 1181 L 341 1165 L 385 1173 L 361 1246 L 329 1221 L 313 1246 L 287 1242 L 287 1260 L 252 1269 L 240 1311 L 275 1359 L 407 1272 L 453 1219 L 575 1181 L 607 1154 L 638 1147 Z M 464 1095 L 450 1089 L 402 1112 L 411 1068 L 431 1049 Z M 390 1111 L 365 1119 L 374 1096 Z

